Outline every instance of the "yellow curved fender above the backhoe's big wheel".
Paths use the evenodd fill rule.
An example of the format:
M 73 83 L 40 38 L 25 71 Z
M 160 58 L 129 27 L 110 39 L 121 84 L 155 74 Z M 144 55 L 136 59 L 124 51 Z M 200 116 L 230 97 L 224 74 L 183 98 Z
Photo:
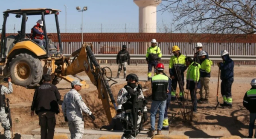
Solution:
M 32 51 L 37 56 L 46 55 L 46 51 L 44 51 L 42 48 L 40 48 L 40 46 L 36 45 L 35 43 L 29 40 L 16 43 L 13 46 L 12 50 L 9 51 L 8 55 L 17 49 L 27 49 L 29 51 Z

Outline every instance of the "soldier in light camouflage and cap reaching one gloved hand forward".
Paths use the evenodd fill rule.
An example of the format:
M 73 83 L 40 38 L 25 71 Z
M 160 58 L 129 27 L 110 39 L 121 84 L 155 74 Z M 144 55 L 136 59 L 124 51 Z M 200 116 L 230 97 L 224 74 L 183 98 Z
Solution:
M 71 139 L 82 139 L 84 134 L 84 119 L 83 114 L 87 113 L 95 120 L 93 113 L 85 105 L 78 91 L 81 90 L 81 84 L 78 80 L 71 82 L 72 89 L 64 96 L 62 103 L 62 111 L 65 121 L 68 122 L 68 127 L 71 133 Z

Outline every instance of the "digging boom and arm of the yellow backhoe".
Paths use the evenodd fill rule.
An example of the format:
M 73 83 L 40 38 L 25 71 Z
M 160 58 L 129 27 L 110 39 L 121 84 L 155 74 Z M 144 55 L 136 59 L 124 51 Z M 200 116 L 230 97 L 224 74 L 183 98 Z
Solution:
M 63 76 L 78 74 L 82 71 L 86 72 L 86 74 L 90 78 L 90 81 L 93 83 L 93 85 L 96 85 L 98 89 L 98 97 L 102 100 L 102 105 L 107 115 L 108 122 L 111 123 L 112 118 L 116 116 L 116 110 L 113 103 L 110 101 L 110 96 L 104 84 L 103 76 L 105 75 L 102 74 L 99 67 L 93 66 L 92 69 L 90 68 L 90 64 L 87 59 L 86 48 L 84 45 L 79 52 L 79 56 L 70 65 L 68 65 L 67 67 L 63 66 L 63 68 Z M 94 75 L 98 76 L 96 76 L 95 78 Z M 102 96 L 104 96 L 105 98 L 103 98 Z

